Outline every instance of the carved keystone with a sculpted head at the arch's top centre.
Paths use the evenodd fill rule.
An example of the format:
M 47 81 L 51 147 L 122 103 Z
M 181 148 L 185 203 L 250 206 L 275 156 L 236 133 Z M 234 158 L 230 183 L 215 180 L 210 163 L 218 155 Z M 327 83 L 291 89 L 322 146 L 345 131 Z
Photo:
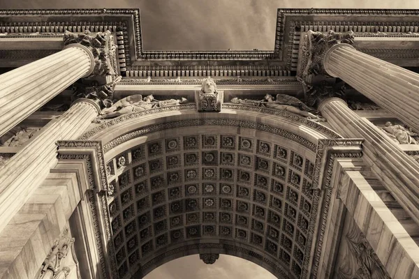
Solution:
M 195 91 L 198 112 L 221 112 L 223 91 L 216 90 L 216 84 L 211 77 L 203 80 L 200 91 Z

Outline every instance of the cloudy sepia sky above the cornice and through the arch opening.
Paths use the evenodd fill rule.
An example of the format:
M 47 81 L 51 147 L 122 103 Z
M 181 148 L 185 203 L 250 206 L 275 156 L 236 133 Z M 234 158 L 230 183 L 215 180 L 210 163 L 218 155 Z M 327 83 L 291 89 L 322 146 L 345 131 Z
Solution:
M 0 0 L 0 8 L 140 8 L 145 50 L 273 50 L 277 8 L 418 8 L 419 0 Z M 213 265 L 198 255 L 168 262 L 146 279 L 271 279 L 237 257 Z

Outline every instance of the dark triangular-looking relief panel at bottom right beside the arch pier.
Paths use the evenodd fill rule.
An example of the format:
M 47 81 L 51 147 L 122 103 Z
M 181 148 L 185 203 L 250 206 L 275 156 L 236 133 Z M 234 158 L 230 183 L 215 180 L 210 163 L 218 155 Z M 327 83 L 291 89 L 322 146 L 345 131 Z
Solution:
M 390 279 L 350 214 L 346 214 L 333 278 Z

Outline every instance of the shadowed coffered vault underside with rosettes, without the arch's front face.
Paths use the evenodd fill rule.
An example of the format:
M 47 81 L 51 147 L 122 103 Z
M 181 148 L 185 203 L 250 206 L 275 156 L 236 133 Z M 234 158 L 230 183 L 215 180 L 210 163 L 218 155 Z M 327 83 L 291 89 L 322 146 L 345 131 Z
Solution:
M 232 241 L 227 254 L 246 243 L 247 255 L 275 263 L 274 275 L 300 278 L 321 195 L 311 189 L 314 151 L 252 129 L 189 128 L 147 135 L 107 164 L 120 277 L 148 273 L 150 261 L 163 264 L 161 251 L 201 239 Z

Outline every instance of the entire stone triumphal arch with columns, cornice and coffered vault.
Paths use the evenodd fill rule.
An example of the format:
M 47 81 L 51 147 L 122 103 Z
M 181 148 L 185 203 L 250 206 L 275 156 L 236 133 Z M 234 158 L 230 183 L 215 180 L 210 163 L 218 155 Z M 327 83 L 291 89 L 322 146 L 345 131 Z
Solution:
M 0 10 L 0 278 L 419 278 L 419 10 L 279 9 L 272 51 Z

